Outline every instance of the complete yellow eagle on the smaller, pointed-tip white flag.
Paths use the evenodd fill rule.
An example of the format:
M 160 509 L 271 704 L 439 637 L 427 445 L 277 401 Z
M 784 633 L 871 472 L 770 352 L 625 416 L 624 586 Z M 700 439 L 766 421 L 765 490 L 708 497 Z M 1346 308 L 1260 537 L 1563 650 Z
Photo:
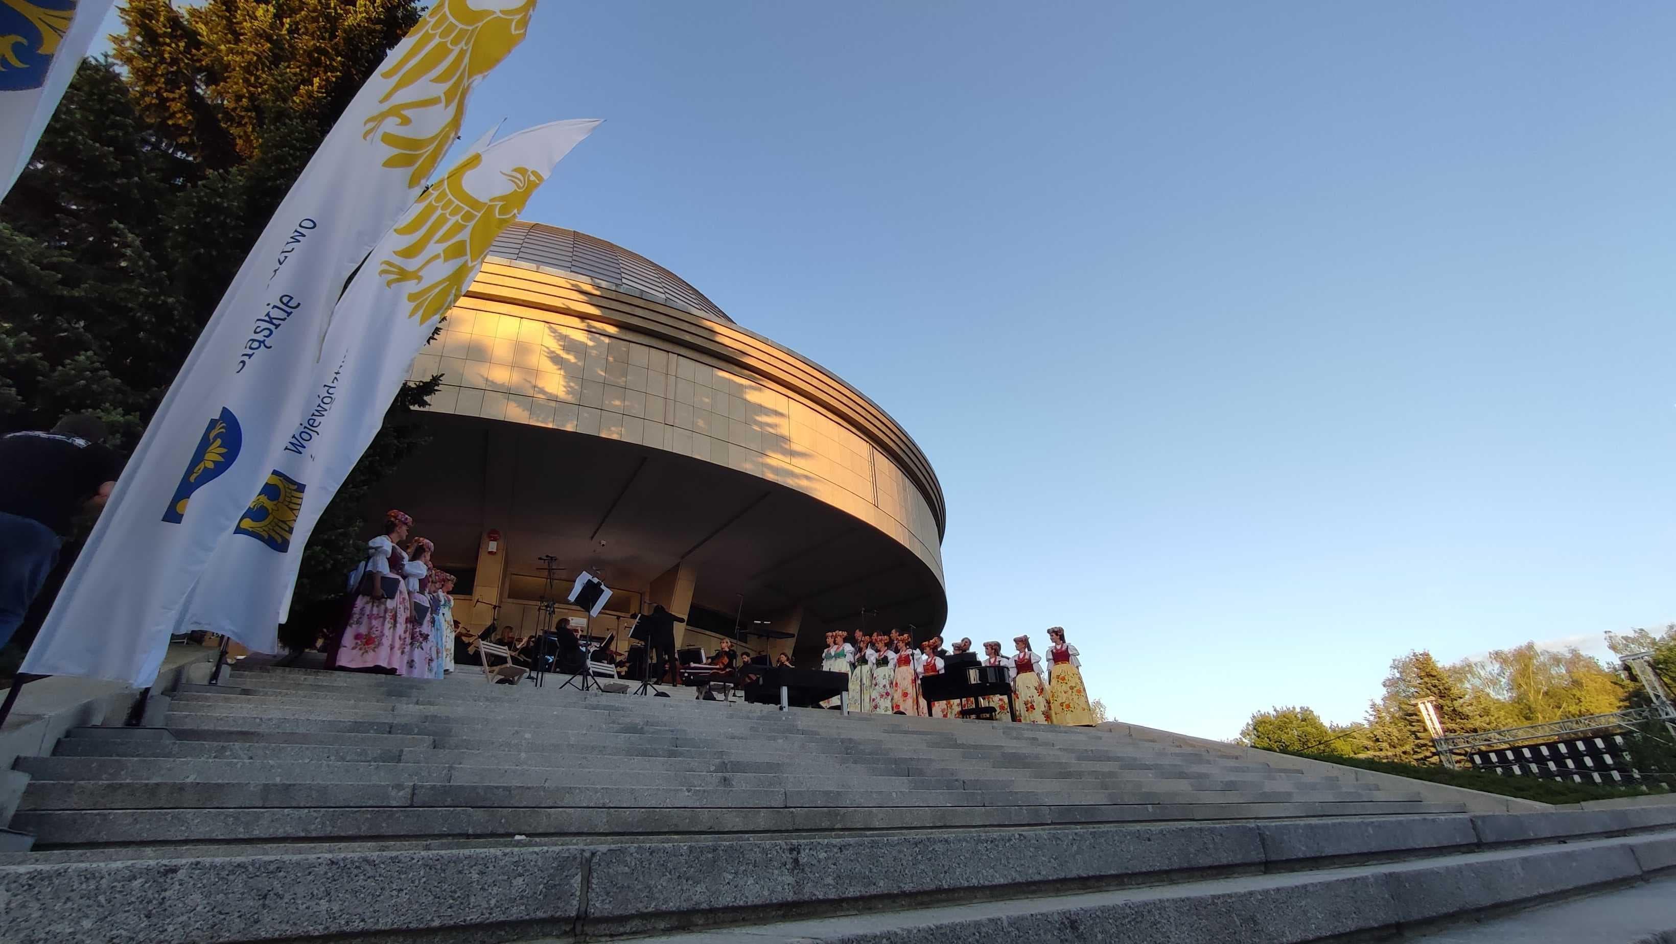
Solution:
M 441 315 L 459 298 L 471 272 L 489 255 L 494 236 L 523 213 L 535 188 L 545 179 L 530 168 L 513 168 L 501 171 L 510 189 L 479 198 L 466 189 L 464 178 L 481 164 L 483 154 L 474 153 L 426 191 L 409 216 L 392 230 L 397 236 L 412 238 L 391 253 L 397 258 L 379 263 L 385 287 L 402 282 L 419 283 L 407 293 L 407 300 L 412 302 L 407 317 L 419 319 L 419 324 Z M 412 260 L 419 263 L 404 265 Z M 437 262 L 446 272 L 426 282 L 426 268 Z

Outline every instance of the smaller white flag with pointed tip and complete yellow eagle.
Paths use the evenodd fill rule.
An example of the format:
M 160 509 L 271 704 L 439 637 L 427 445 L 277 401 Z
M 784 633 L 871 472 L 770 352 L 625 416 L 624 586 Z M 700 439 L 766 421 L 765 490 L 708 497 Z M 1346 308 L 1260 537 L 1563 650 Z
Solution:
M 337 303 L 313 396 L 263 490 L 204 570 L 188 629 L 277 652 L 302 550 L 384 426 L 412 359 L 553 166 L 598 126 L 555 121 L 469 151 L 407 211 Z

